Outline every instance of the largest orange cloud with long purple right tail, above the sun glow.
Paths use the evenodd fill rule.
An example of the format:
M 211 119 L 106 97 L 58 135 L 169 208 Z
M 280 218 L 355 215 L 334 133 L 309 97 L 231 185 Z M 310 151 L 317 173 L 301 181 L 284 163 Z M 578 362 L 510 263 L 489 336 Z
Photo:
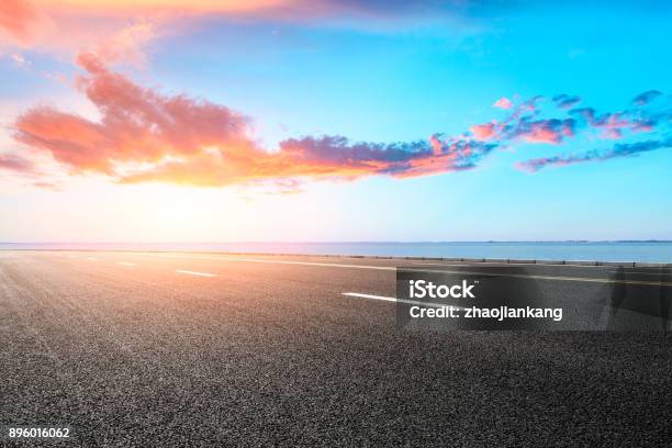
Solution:
M 296 178 L 356 179 L 423 176 L 473 168 L 494 145 L 463 138 L 397 144 L 304 137 L 259 147 L 250 120 L 224 105 L 166 96 L 111 71 L 98 55 L 81 54 L 87 75 L 77 87 L 98 108 L 98 122 L 40 107 L 19 116 L 15 138 L 48 153 L 72 172 L 120 182 L 163 181 L 227 186 Z

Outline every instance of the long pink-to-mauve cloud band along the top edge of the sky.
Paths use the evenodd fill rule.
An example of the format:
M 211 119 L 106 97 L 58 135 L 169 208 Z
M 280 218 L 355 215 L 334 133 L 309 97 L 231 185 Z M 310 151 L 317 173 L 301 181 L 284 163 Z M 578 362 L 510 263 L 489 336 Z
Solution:
M 416 20 L 436 14 L 463 16 L 460 2 L 370 2 L 366 0 L 1 0 L 0 45 L 79 52 L 143 19 L 171 32 L 198 18 L 225 16 L 273 21 L 339 21 L 361 18 Z M 2 31 L 10 42 L 2 37 Z

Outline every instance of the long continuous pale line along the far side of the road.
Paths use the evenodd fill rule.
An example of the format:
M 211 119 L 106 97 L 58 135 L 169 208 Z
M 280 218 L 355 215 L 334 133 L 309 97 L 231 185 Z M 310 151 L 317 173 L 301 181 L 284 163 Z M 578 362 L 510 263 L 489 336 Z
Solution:
M 299 265 L 299 266 L 321 266 L 327 268 L 352 268 L 352 269 L 376 269 L 376 270 L 396 270 L 395 266 L 371 266 L 371 265 L 346 265 L 336 262 L 315 262 L 315 261 L 289 261 L 289 260 L 265 260 L 260 258 L 240 258 L 240 257 L 204 257 L 204 256 L 184 256 L 181 254 L 164 255 L 164 254 L 138 254 L 148 256 L 158 256 L 165 258 L 189 258 L 189 259 L 205 259 L 205 260 L 219 260 L 219 261 L 249 261 L 249 262 L 266 262 L 273 265 Z M 468 265 L 472 268 L 478 268 L 478 265 Z M 507 265 L 511 267 L 524 266 L 519 264 Z M 553 265 L 555 266 L 555 265 Z M 568 265 L 569 267 L 573 267 Z M 450 267 L 450 265 L 447 265 Z M 648 284 L 648 285 L 663 285 L 672 287 L 672 283 L 659 282 L 659 281 L 640 281 L 640 280 L 616 280 L 616 279 L 594 279 L 585 277 L 559 277 L 559 276 L 529 276 L 529 275 L 514 275 L 505 272 L 486 272 L 486 271 L 462 271 L 462 270 L 432 270 L 432 269 L 418 269 L 421 272 L 432 273 L 458 273 L 468 276 L 493 276 L 493 277 L 509 277 L 509 278 L 522 278 L 522 279 L 535 279 L 535 280 L 556 280 L 556 281 L 581 281 L 591 283 L 627 283 L 627 284 Z

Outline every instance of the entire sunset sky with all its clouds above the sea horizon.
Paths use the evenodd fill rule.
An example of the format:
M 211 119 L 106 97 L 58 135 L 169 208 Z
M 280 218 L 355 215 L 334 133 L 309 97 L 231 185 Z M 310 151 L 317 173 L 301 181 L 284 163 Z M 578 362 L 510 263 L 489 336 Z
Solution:
M 3 0 L 0 240 L 672 239 L 664 2 Z

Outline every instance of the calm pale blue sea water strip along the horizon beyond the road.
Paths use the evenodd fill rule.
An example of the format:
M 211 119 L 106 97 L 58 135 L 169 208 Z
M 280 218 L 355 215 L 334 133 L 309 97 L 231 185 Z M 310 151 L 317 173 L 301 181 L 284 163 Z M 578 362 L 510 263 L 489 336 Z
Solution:
M 636 243 L 0 243 L 0 249 L 202 250 L 672 262 L 672 242 Z

